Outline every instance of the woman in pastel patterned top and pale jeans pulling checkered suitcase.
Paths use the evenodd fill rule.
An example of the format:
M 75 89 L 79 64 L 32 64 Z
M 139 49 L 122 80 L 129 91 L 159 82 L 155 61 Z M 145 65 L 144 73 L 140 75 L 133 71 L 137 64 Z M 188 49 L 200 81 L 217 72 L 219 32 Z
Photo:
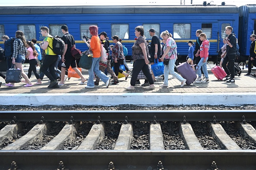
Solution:
M 182 78 L 178 73 L 174 71 L 175 62 L 177 59 L 177 45 L 175 40 L 172 38 L 172 34 L 165 30 L 161 33 L 162 39 L 166 40 L 166 46 L 164 46 L 164 54 L 162 55 L 161 61 L 164 59 L 169 60 L 169 64 L 165 65 L 164 69 L 164 84 L 159 85 L 160 87 L 168 87 L 168 75 L 169 73 L 181 82 L 181 87 L 186 83 L 186 79 Z

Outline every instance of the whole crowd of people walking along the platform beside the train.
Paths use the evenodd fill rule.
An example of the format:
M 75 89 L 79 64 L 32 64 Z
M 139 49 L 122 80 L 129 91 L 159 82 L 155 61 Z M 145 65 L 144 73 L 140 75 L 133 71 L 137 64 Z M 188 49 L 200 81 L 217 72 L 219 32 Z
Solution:
M 16 38 L 13 41 L 13 53 L 10 56 L 6 55 L 7 69 L 19 68 L 21 70 L 22 77 L 24 78 L 22 82 L 26 83 L 24 87 L 33 86 L 30 81 L 31 73 L 33 71 L 34 76 L 37 79 L 37 82 L 34 83 L 34 85 L 41 85 L 41 80 L 45 75 L 50 80 L 48 88 L 59 88 L 60 85 L 65 85 L 65 80 L 68 78 L 66 70 L 69 69 L 69 67 L 72 67 L 72 69 L 75 70 L 81 78 L 81 82 L 78 84 L 86 85 L 85 88 L 94 88 L 95 85 L 99 85 L 100 79 L 106 83 L 107 88 L 109 87 L 111 78 L 113 79 L 112 85 L 116 85 L 119 83 L 119 74 L 122 74 L 125 77 L 125 81 L 128 79 L 130 71 L 125 62 L 124 46 L 122 46 L 121 43 L 122 39 L 119 39 L 118 35 L 112 36 L 112 40 L 115 45 L 110 46 L 106 32 L 98 34 L 97 26 L 93 25 L 89 27 L 91 39 L 84 37 L 83 40 L 92 52 L 92 64 L 91 68 L 88 70 L 89 78 L 85 79 L 81 71 L 77 68 L 76 58 L 74 58 L 71 53 L 71 49 L 75 48 L 75 39 L 69 33 L 68 27 L 66 25 L 62 25 L 60 28 L 64 35 L 59 38 L 61 38 L 65 43 L 65 51 L 62 55 L 57 55 L 53 52 L 53 36 L 49 34 L 49 28 L 41 27 L 40 29 L 42 36 L 45 37 L 44 41 L 39 44 L 40 47 L 36 44 L 36 39 L 27 41 L 24 33 L 18 30 L 16 31 Z M 142 86 L 148 86 L 146 89 L 155 89 L 154 82 L 156 82 L 156 78 L 158 77 L 156 77 L 153 71 L 150 70 L 150 65 L 156 64 L 158 61 L 167 62 L 164 66 L 164 82 L 160 87 L 169 86 L 169 74 L 172 75 L 172 78 L 178 79 L 178 81 L 181 82 L 181 87 L 183 87 L 187 80 L 175 72 L 175 62 L 178 58 L 178 52 L 177 45 L 175 40 L 172 38 L 172 34 L 169 33 L 168 30 L 163 31 L 160 34 L 163 43 L 162 46 L 161 40 L 156 35 L 154 28 L 151 28 L 148 31 L 150 36 L 152 36 L 151 43 L 149 43 L 148 40 L 146 41 L 144 38 L 144 27 L 135 27 L 134 34 L 137 38 L 135 38 L 134 45 L 131 48 L 134 64 L 130 86 L 125 89 L 134 90 L 134 86 L 140 84 L 138 75 L 141 71 L 146 77 Z M 220 61 L 220 67 L 223 67 L 227 73 L 225 81 L 231 83 L 235 82 L 234 64 L 237 52 L 237 38 L 232 32 L 233 28 L 231 26 L 225 28 L 225 33 L 228 36 L 223 39 L 224 45 L 220 49 L 220 55 L 222 58 Z M 187 63 L 190 64 L 193 70 L 197 73 L 197 79 L 194 81 L 195 84 L 209 83 L 206 64 L 209 58 L 210 43 L 206 34 L 203 33 L 202 30 L 197 30 L 196 36 L 198 38 L 195 42 L 195 49 L 192 41 L 187 42 L 189 46 Z M 7 35 L 2 36 L 2 39 L 3 42 L 9 41 L 9 37 Z M 251 74 L 251 65 L 256 67 L 256 52 L 254 51 L 256 41 L 255 34 L 250 36 L 250 40 L 252 41 L 252 44 L 250 46 L 248 73 L 246 76 L 251 75 L 256 77 L 256 73 Z M 108 55 L 106 62 L 100 60 L 101 46 L 106 49 L 106 53 Z M 112 55 L 110 55 L 110 51 L 112 51 Z M 25 58 L 29 60 L 28 74 L 26 74 L 22 68 Z M 60 70 L 58 69 L 59 63 L 61 63 Z M 112 63 L 114 70 L 112 70 Z M 125 64 L 125 71 L 120 68 L 121 64 Z M 40 73 L 37 73 L 37 66 L 40 66 Z M 110 73 L 111 78 L 107 76 L 107 73 Z M 6 76 L 2 72 L 0 72 L 0 76 L 3 77 L 3 79 L 6 79 Z M 96 79 L 95 82 L 94 79 Z M 59 80 L 59 82 L 57 80 Z M 0 82 L 0 85 L 2 85 L 2 82 Z M 8 87 L 15 86 L 14 83 L 6 83 L 5 85 Z

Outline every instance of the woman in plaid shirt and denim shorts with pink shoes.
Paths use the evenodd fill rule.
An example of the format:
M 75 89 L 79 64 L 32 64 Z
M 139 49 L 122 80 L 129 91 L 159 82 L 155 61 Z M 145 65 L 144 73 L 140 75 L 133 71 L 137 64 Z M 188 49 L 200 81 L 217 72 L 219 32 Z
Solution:
M 27 82 L 24 87 L 31 87 L 33 84 L 28 79 L 27 74 L 23 71 L 22 64 L 25 62 L 25 54 L 27 53 L 26 49 L 26 39 L 24 33 L 20 30 L 16 31 L 16 39 L 13 42 L 13 54 L 12 54 L 12 64 L 15 65 L 15 68 L 19 68 L 22 73 L 22 77 Z M 6 86 L 13 87 L 14 83 L 8 83 Z

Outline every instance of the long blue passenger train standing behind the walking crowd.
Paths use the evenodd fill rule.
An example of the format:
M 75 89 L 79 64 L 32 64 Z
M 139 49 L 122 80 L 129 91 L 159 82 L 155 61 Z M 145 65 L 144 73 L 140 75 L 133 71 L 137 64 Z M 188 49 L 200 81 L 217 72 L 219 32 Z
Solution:
M 16 30 L 22 30 L 26 39 L 36 38 L 38 43 L 44 37 L 40 27 L 50 28 L 52 36 L 62 36 L 62 24 L 69 27 L 75 38 L 76 47 L 86 50 L 82 36 L 90 36 L 88 27 L 97 25 L 99 33 L 105 31 L 111 36 L 118 35 L 131 56 L 134 43 L 134 28 L 143 25 L 146 39 L 151 40 L 150 28 L 156 34 L 164 30 L 172 33 L 178 46 L 178 59 L 188 53 L 187 41 L 196 41 L 196 30 L 206 33 L 210 42 L 209 58 L 218 55 L 226 37 L 225 27 L 232 26 L 238 37 L 240 53 L 249 55 L 249 36 L 256 30 L 256 5 L 191 5 L 191 6 L 31 6 L 0 7 L 0 36 L 14 37 Z M 110 41 L 112 43 L 112 41 Z M 3 47 L 3 41 L 0 41 Z

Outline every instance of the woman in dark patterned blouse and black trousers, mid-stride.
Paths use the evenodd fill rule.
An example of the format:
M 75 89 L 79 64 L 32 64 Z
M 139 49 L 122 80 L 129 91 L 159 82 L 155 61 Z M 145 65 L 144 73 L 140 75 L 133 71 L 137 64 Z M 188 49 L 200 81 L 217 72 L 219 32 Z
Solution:
M 132 56 L 134 60 L 134 67 L 132 69 L 132 76 L 131 76 L 131 86 L 125 88 L 126 90 L 134 90 L 135 82 L 137 80 L 137 77 L 140 73 L 140 70 L 143 71 L 144 75 L 147 77 L 150 86 L 146 87 L 146 89 L 155 89 L 154 81 L 151 75 L 151 72 L 149 70 L 148 64 L 148 58 L 149 58 L 149 51 L 147 47 L 146 39 L 144 36 L 144 28 L 143 26 L 137 26 L 135 28 L 135 36 L 138 38 L 134 42 L 134 45 L 132 46 Z

